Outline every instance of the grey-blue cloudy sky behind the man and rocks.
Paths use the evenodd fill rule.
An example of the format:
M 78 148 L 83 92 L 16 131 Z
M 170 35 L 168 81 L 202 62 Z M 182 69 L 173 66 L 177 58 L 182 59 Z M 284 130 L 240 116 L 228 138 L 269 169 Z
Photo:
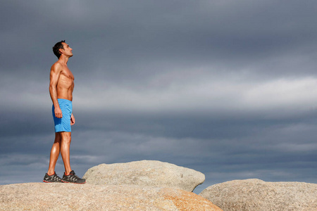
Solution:
M 0 184 L 41 182 L 52 46 L 75 76 L 70 163 L 160 160 L 317 183 L 317 1 L 0 1 Z M 61 157 L 56 173 L 63 175 Z

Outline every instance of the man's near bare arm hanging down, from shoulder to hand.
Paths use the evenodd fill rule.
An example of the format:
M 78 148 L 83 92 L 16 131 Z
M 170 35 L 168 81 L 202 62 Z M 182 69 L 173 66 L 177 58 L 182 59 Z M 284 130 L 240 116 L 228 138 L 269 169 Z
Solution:
M 51 66 L 51 73 L 49 75 L 49 94 L 51 95 L 51 101 L 54 104 L 55 116 L 58 118 L 63 117 L 61 108 L 59 108 L 59 104 L 57 101 L 57 83 L 60 75 L 61 65 L 59 63 L 54 63 L 54 65 Z

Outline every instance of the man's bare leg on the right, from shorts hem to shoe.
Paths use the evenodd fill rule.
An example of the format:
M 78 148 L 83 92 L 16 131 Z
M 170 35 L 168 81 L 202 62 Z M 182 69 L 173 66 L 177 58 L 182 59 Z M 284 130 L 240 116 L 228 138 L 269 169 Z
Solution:
M 65 166 L 65 174 L 69 174 L 70 168 L 70 141 L 72 141 L 71 132 L 60 132 L 61 134 L 61 155 Z

